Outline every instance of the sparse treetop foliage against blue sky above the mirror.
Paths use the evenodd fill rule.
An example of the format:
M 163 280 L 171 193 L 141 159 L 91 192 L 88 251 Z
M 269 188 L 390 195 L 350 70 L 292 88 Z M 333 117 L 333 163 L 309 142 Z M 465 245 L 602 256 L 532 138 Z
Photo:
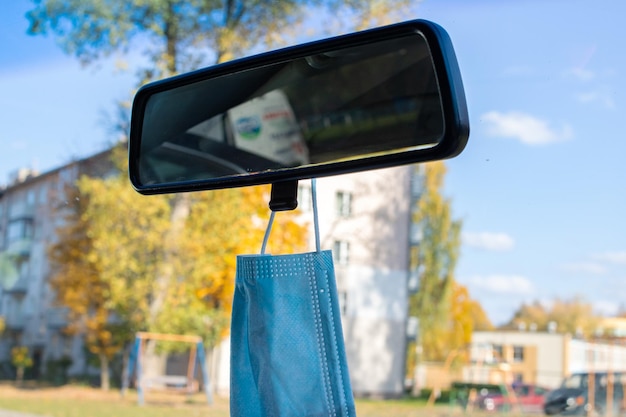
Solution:
M 285 43 L 306 11 L 349 11 L 353 26 L 388 23 L 407 0 L 33 0 L 29 33 L 52 34 L 85 64 L 141 50 L 140 81 Z M 313 9 L 312 9 L 313 8 Z M 290 33 L 291 31 L 291 33 Z M 291 36 L 290 36 L 291 35 Z

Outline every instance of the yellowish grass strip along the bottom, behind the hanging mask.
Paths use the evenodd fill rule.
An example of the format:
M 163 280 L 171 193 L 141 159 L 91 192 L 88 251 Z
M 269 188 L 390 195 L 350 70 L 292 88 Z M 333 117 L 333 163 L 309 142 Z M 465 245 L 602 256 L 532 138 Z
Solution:
M 204 396 L 191 398 L 183 394 L 148 393 L 146 405 L 137 405 L 137 395 L 130 392 L 122 398 L 118 391 L 65 386 L 60 388 L 16 389 L 0 386 L 0 409 L 21 411 L 49 417 L 228 417 L 228 400 L 215 398 L 207 405 Z M 459 410 L 460 411 L 460 410 Z M 359 417 L 445 417 L 448 407 L 428 409 L 416 401 L 358 400 Z

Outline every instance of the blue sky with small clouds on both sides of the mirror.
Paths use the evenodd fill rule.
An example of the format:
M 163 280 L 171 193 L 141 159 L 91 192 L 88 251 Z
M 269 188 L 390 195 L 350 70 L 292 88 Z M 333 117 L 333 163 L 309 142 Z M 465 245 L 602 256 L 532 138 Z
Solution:
M 0 3 L 0 183 L 103 149 L 133 73 L 82 68 L 26 35 L 27 0 Z M 463 220 L 457 278 L 491 319 L 522 301 L 626 303 L 626 3 L 426 0 L 415 18 L 452 37 L 471 118 L 448 163 Z M 313 17 L 311 17 L 313 20 Z

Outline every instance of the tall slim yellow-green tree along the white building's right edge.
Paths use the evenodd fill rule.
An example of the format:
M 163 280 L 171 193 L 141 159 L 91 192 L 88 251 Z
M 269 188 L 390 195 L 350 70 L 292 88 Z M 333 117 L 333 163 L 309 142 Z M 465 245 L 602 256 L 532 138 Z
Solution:
M 417 169 L 423 169 L 422 194 L 413 221 L 421 231 L 421 241 L 412 263 L 420 276 L 410 309 L 411 315 L 419 319 L 419 343 L 424 359 L 443 360 L 451 349 L 447 344 L 461 222 L 452 219 L 450 201 L 441 192 L 446 173 L 443 162 Z

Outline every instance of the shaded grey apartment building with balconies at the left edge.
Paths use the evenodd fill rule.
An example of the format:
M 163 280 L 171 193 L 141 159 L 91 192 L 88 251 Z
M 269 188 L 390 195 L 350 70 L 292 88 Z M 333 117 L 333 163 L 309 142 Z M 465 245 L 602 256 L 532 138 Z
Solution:
M 65 311 L 55 306 L 48 286 L 47 249 L 63 223 L 65 191 L 82 174 L 112 172 L 108 152 L 69 163 L 43 175 L 18 171 L 0 190 L 0 315 L 5 329 L 0 337 L 0 378 L 10 376 L 10 351 L 27 346 L 34 366 L 32 376 L 43 376 L 46 364 L 72 358 L 70 372 L 84 369 L 78 336 L 66 335 Z

